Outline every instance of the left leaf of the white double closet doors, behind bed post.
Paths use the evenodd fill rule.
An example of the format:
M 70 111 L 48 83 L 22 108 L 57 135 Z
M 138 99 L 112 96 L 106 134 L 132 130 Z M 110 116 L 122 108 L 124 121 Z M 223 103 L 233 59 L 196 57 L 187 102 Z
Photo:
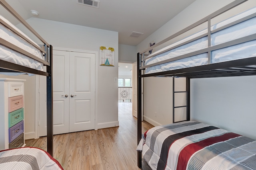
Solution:
M 69 132 L 69 52 L 53 51 L 52 73 L 53 134 L 56 135 Z M 39 92 L 39 136 L 46 136 L 46 76 L 40 76 Z

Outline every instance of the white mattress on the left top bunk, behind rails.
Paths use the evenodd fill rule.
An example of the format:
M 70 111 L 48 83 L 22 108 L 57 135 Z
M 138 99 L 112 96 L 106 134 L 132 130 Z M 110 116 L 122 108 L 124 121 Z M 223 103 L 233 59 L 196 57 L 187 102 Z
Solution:
M 6 20 L 1 15 L 0 15 L 0 18 L 2 20 L 4 20 L 6 23 L 9 23 L 10 25 L 12 25 L 12 27 L 15 28 L 17 31 L 22 33 L 17 27 L 15 27 L 12 23 L 10 23 L 8 20 Z M 22 33 L 22 34 L 24 36 L 26 36 L 24 33 Z M 24 49 L 25 51 L 31 53 L 32 55 L 39 57 L 40 59 L 43 59 L 43 54 L 40 50 L 38 50 L 36 47 L 32 46 L 30 43 L 28 43 L 24 39 L 22 39 L 20 36 L 16 35 L 14 32 L 10 31 L 10 29 L 8 29 L 7 27 L 5 27 L 2 24 L 0 24 L 0 37 L 4 40 L 16 45 L 17 47 L 20 47 L 21 49 Z M 10 63 L 19 64 L 22 66 L 36 69 L 36 70 L 43 70 L 42 63 L 40 63 L 34 59 L 31 59 L 30 57 L 22 55 L 16 51 L 13 51 L 7 47 L 4 47 L 3 45 L 0 45 L 0 60 L 8 61 Z

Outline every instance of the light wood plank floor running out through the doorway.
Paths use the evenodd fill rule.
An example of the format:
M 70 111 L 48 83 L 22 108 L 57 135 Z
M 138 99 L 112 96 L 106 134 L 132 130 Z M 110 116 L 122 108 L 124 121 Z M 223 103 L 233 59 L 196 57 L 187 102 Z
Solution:
M 54 135 L 54 158 L 64 170 L 139 170 L 137 119 L 131 103 L 118 104 L 119 127 Z M 142 132 L 153 127 L 142 122 Z M 46 137 L 26 140 L 26 146 L 46 150 Z M 142 169 L 150 169 L 143 162 Z

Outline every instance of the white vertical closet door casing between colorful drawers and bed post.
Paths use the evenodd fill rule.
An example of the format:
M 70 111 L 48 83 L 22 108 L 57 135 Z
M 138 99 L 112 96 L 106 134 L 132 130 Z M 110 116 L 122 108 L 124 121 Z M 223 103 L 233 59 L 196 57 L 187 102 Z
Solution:
M 39 75 L 36 75 L 35 77 L 35 134 L 34 134 L 34 139 L 39 138 Z M 26 138 L 26 137 L 25 137 Z

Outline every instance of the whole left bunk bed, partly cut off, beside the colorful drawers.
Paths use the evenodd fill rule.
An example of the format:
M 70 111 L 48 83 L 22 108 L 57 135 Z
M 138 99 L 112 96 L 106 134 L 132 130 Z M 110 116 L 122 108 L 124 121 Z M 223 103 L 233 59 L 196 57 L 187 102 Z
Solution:
M 22 33 L 22 31 L 20 31 L 12 23 L 10 23 L 7 19 L 0 16 L 0 74 L 37 74 L 47 77 L 47 152 L 42 152 L 42 150 L 40 149 L 38 149 L 38 151 L 35 151 L 36 149 L 31 148 L 8 149 L 1 151 L 1 169 L 12 169 L 12 166 L 8 166 L 9 164 L 5 163 L 4 161 L 14 161 L 16 162 L 16 165 L 18 167 L 21 167 L 21 160 L 23 159 L 24 162 L 26 162 L 26 158 L 28 158 L 26 156 L 28 155 L 30 156 L 30 158 L 33 157 L 37 159 L 37 156 L 39 156 L 39 159 L 50 158 L 50 160 L 54 160 L 54 158 L 52 158 L 52 45 L 49 45 L 5 0 L 0 0 L 0 4 L 2 5 L 2 7 L 6 9 L 6 11 L 12 14 L 12 16 L 14 16 L 22 25 L 24 25 L 31 33 L 33 33 L 35 37 L 38 39 L 38 41 L 42 42 L 43 44 L 38 45 L 32 39 L 30 39 L 28 36 Z M 43 66 L 46 66 L 46 71 L 43 70 Z M 28 150 L 28 152 L 26 150 Z M 36 154 L 36 152 L 38 153 Z M 14 160 L 7 159 L 7 157 L 5 157 L 6 155 L 8 158 L 14 158 Z M 24 155 L 25 157 L 22 158 L 21 155 Z M 20 159 L 15 158 L 16 156 L 20 156 Z M 4 168 L 5 165 L 7 165 L 6 168 Z M 57 167 L 62 169 L 61 166 Z

